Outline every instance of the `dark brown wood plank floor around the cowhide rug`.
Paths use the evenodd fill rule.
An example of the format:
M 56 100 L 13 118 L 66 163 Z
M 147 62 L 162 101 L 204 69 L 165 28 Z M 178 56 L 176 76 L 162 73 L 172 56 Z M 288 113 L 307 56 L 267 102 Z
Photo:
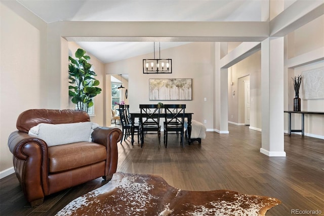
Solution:
M 142 149 L 129 139 L 118 144 L 117 171 L 156 174 L 183 190 L 227 189 L 280 199 L 282 203 L 266 215 L 291 215 L 292 209 L 324 214 L 323 140 L 285 135 L 287 157 L 268 157 L 260 153 L 260 132 L 231 124 L 229 131 L 229 135 L 207 132 L 201 145 L 184 148 L 176 136 L 169 137 L 173 140 L 167 149 L 157 148 L 154 135 L 145 138 Z M 0 215 L 54 215 L 103 184 L 99 178 L 48 196 L 42 205 L 31 208 L 13 174 L 0 181 Z

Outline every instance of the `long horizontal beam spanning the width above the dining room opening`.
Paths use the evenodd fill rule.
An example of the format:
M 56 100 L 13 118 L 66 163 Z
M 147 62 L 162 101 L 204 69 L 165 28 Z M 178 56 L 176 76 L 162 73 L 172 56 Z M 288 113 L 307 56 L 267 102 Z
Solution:
M 69 41 L 262 41 L 268 22 L 78 22 L 49 23 Z

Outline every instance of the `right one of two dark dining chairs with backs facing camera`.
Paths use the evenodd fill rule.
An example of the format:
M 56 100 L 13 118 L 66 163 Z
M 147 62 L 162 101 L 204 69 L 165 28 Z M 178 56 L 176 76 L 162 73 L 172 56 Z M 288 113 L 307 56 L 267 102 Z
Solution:
M 185 104 L 164 105 L 164 143 L 168 146 L 168 135 L 180 133 L 180 144 L 183 147 Z

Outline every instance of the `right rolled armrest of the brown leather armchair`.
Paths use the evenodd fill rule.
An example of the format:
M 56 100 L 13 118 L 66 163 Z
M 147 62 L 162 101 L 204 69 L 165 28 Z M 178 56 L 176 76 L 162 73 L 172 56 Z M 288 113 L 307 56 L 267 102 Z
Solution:
M 107 149 L 105 177 L 103 177 L 105 180 L 110 180 L 117 170 L 117 143 L 121 138 L 122 133 L 119 128 L 97 127 L 92 133 L 92 142 L 104 145 Z

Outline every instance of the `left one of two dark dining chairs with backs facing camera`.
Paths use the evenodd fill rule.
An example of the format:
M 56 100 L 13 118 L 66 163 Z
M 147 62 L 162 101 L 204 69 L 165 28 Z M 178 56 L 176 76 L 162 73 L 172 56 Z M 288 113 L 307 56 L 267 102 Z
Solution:
M 157 146 L 159 148 L 161 137 L 160 109 L 157 104 L 140 104 L 140 110 L 141 147 L 144 144 L 144 135 L 157 134 Z

